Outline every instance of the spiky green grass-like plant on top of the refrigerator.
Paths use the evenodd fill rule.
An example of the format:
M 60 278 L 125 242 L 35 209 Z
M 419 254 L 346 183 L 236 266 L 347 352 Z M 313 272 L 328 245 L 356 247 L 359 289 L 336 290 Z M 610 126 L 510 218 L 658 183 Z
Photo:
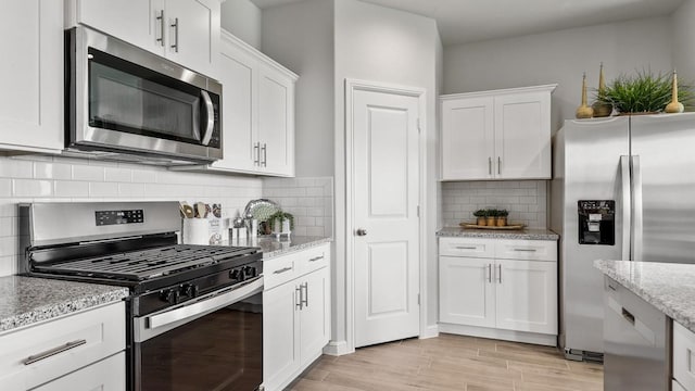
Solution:
M 685 106 L 693 103 L 691 86 L 678 86 L 678 100 Z M 620 114 L 660 113 L 671 102 L 672 83 L 670 74 L 637 71 L 636 75 L 620 75 L 597 91 L 596 100 L 611 104 Z

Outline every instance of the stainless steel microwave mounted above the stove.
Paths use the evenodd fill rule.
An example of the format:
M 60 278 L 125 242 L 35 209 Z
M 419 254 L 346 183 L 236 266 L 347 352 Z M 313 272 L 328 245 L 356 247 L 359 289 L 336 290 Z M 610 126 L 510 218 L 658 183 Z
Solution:
M 85 26 L 65 31 L 66 152 L 166 165 L 222 159 L 222 85 Z

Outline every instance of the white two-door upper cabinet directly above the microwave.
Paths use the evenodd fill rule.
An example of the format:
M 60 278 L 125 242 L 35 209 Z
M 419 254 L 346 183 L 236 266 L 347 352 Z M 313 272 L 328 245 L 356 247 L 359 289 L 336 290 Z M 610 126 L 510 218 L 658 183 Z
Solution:
M 70 0 L 68 5 L 68 27 L 85 24 L 218 76 L 219 0 Z

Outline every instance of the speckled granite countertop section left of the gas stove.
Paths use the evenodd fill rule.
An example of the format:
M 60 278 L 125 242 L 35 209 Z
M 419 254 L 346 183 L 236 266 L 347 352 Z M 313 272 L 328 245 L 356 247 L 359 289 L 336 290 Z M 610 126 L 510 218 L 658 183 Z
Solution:
M 0 333 L 117 302 L 128 289 L 24 276 L 0 277 Z

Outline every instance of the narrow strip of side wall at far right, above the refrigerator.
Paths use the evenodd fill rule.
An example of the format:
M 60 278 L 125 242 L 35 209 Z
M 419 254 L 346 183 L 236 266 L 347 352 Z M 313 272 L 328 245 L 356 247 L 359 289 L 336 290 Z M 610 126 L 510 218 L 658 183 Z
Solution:
M 695 0 L 685 0 L 673 12 L 673 66 L 680 81 L 695 83 Z

